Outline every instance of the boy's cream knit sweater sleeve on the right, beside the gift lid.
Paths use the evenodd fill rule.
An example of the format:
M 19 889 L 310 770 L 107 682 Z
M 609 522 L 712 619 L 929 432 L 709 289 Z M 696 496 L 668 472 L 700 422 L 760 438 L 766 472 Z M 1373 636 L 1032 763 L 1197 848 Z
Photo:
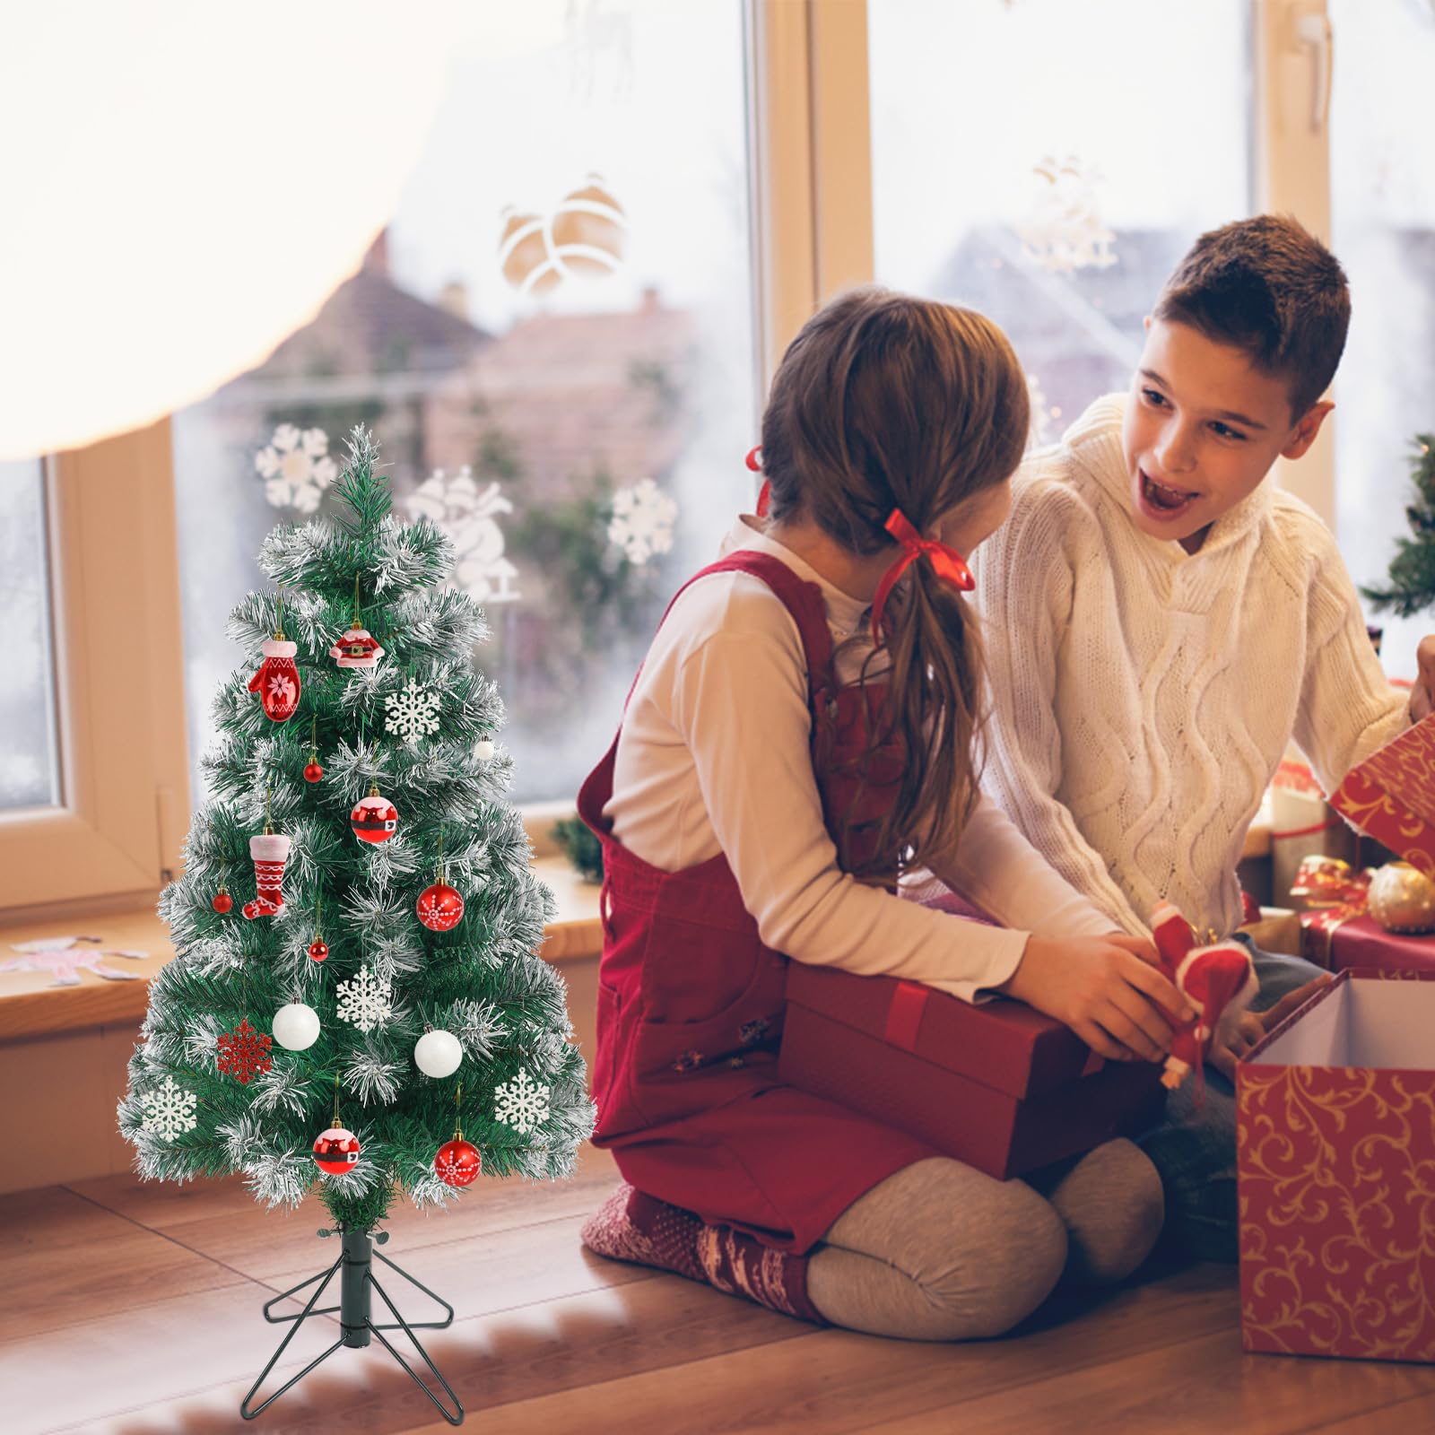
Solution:
M 1294 738 L 1325 791 L 1409 726 L 1409 697 L 1391 686 L 1365 630 L 1335 538 L 1306 511 L 1287 515 L 1283 551 L 1310 555 L 1306 672 Z

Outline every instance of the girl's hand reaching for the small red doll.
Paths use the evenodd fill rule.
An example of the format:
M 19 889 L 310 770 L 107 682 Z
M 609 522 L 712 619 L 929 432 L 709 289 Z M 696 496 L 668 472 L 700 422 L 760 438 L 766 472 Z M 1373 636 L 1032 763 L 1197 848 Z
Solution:
M 1016 971 L 997 990 L 1065 1022 L 1099 1056 L 1161 1062 L 1171 1050 L 1165 1012 L 1182 1020 L 1195 1012 L 1161 976 L 1154 957 L 1142 937 L 1032 936 Z

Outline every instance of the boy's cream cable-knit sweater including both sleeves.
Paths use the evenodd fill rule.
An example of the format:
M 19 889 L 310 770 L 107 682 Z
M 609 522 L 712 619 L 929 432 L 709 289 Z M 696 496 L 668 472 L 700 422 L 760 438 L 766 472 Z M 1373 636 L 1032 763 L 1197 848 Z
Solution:
M 1195 554 L 1129 518 L 1125 397 L 1032 455 L 977 555 L 986 789 L 1128 931 L 1241 920 L 1236 864 L 1294 736 L 1325 789 L 1406 726 L 1320 519 L 1266 479 Z

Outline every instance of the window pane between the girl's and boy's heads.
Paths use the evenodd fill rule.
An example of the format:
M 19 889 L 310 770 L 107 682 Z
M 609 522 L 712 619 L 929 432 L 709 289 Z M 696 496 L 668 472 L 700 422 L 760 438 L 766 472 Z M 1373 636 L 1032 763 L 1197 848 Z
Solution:
M 1251 210 L 1247 0 L 867 10 L 875 277 L 1002 324 L 1055 439 L 1126 387 L 1195 235 Z

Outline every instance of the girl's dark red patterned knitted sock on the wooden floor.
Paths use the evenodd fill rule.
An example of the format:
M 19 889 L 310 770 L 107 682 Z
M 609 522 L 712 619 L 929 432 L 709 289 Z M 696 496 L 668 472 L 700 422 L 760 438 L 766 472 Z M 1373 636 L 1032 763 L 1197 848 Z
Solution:
M 706 1225 L 692 1211 L 631 1185 L 620 1185 L 580 1234 L 598 1256 L 670 1270 L 769 1310 L 827 1325 L 808 1299 L 805 1256 L 772 1250 L 730 1225 Z

